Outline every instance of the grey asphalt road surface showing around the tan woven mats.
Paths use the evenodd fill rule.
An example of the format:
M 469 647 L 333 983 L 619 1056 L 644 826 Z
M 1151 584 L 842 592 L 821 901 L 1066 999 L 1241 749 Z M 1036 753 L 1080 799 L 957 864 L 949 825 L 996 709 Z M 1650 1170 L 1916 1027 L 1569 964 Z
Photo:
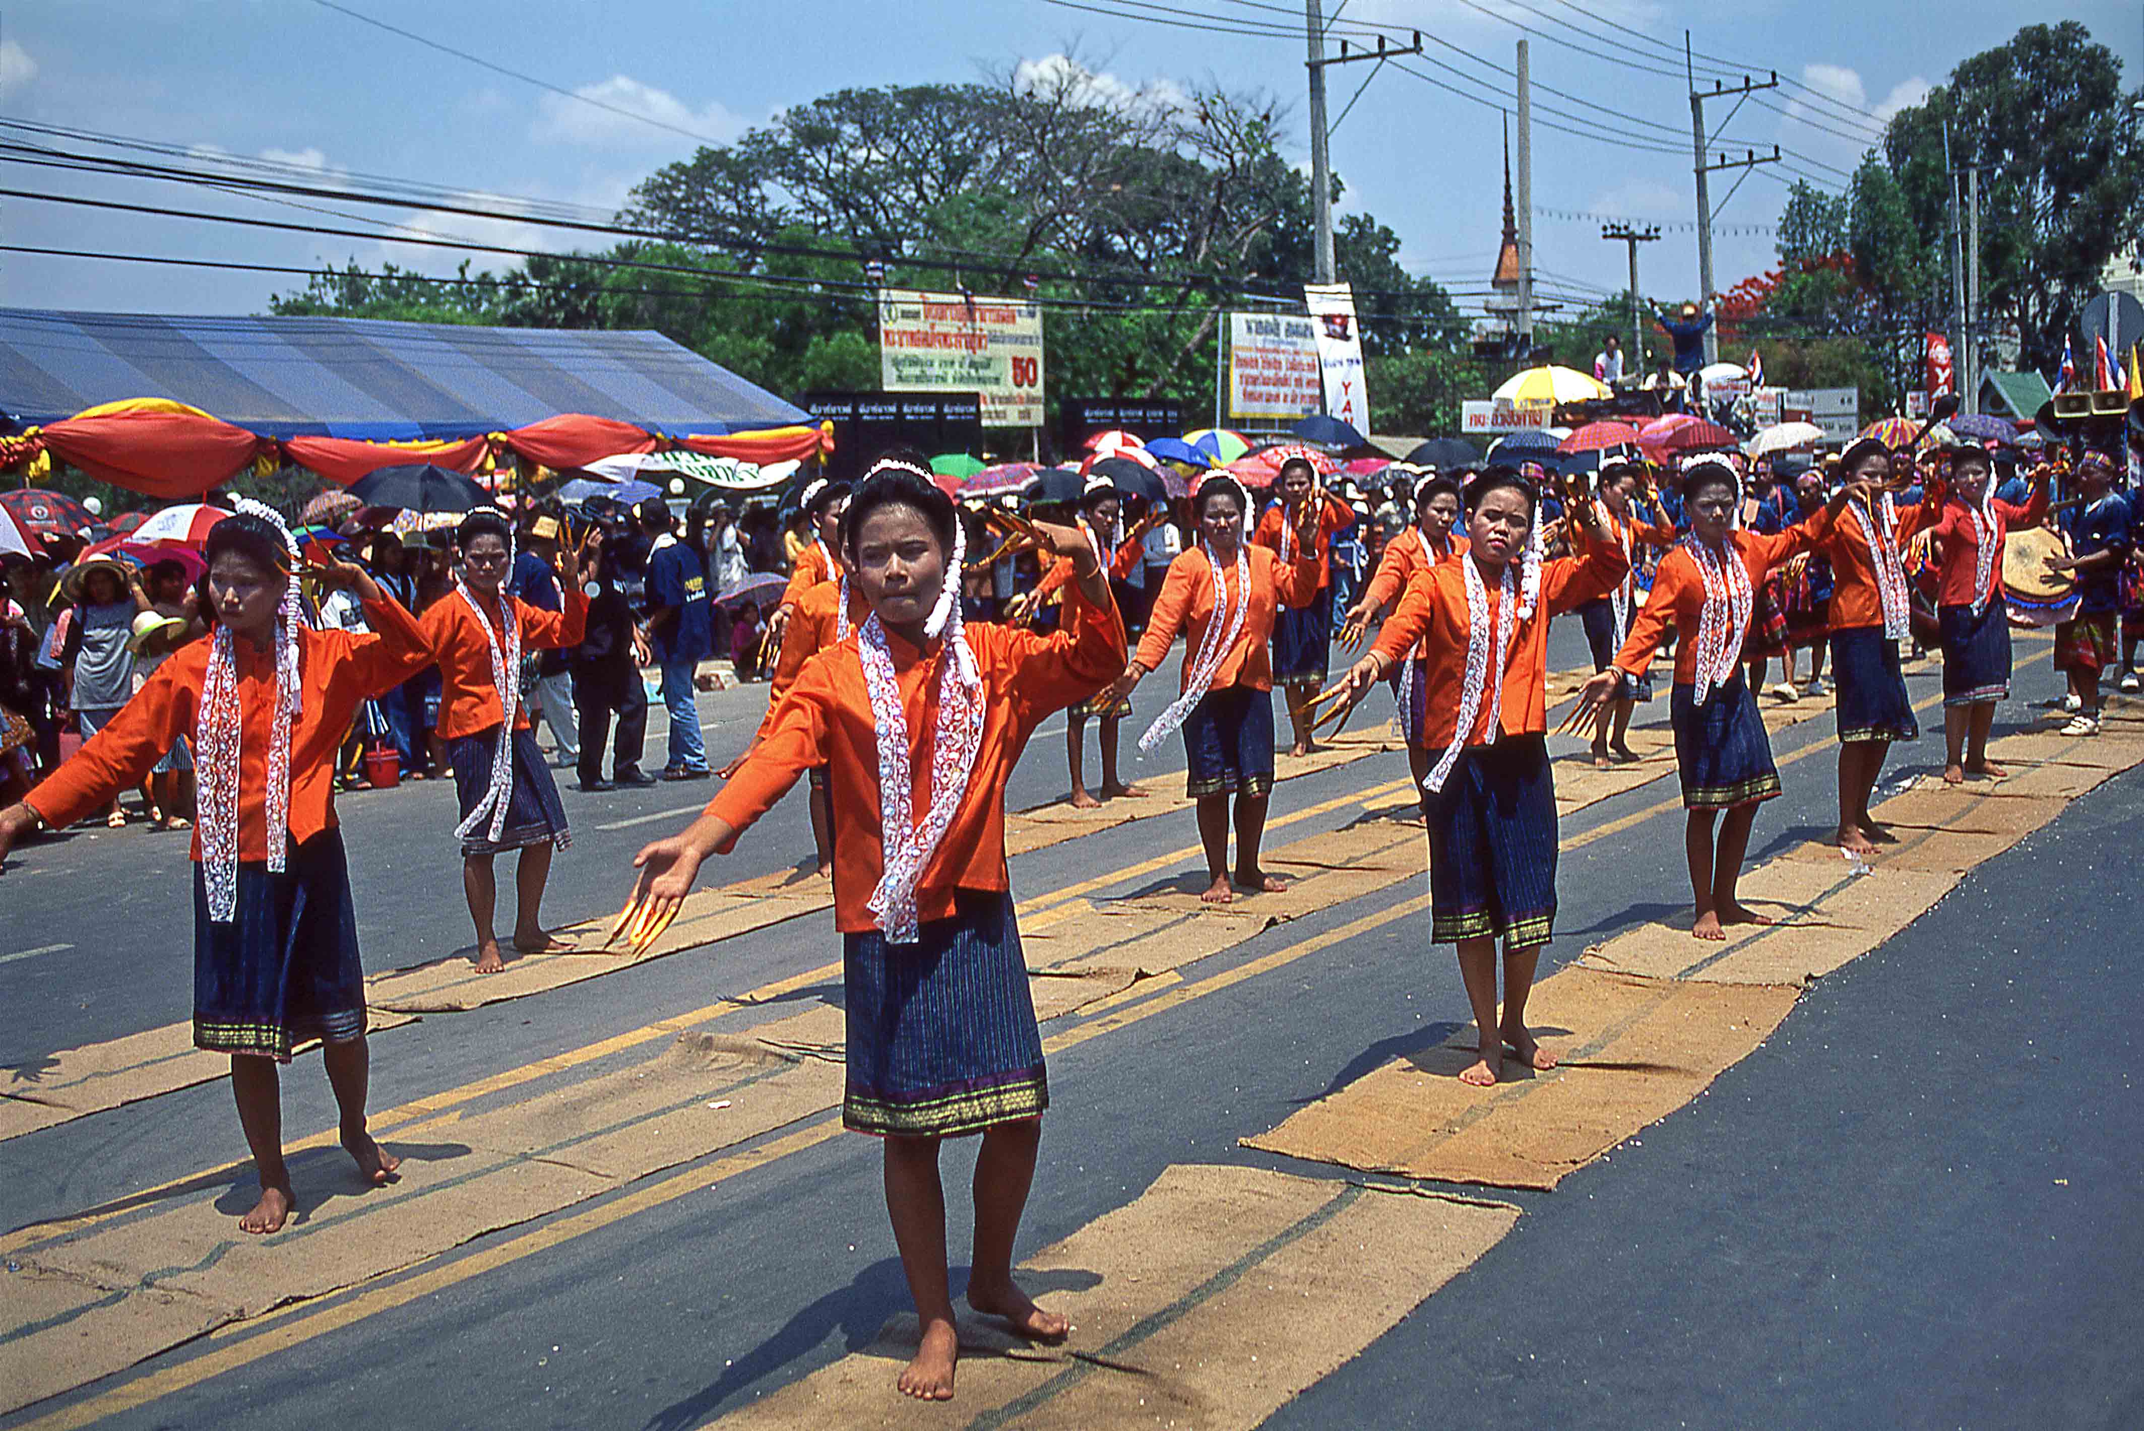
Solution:
M 2052 690 L 2039 651 L 2020 673 L 2011 722 Z M 1552 664 L 1576 660 L 1576 626 L 1559 623 Z M 1143 707 L 1156 705 L 1158 692 L 1143 694 Z M 1915 677 L 1915 698 L 1930 694 L 1934 677 Z M 703 718 L 716 724 L 710 754 L 723 758 L 757 709 L 725 692 L 703 698 Z M 1063 790 L 1059 730 L 1051 722 L 1036 741 L 1014 805 Z M 1780 733 L 1777 748 L 1784 756 L 1829 739 L 1831 722 L 1812 720 Z M 1179 754 L 1156 754 L 1168 758 L 1141 773 L 1171 778 Z M 1936 763 L 1940 741 L 1923 737 L 1887 775 Z M 1758 846 L 1829 825 L 1829 771 L 1822 752 L 1790 767 Z M 1404 767 L 1387 756 L 1289 780 L 1276 814 L 1396 773 Z M 705 790 L 568 793 L 577 844 L 557 863 L 553 908 L 615 906 L 630 848 L 669 823 L 602 825 L 688 810 Z M 1565 835 L 1668 795 L 1672 784 L 1653 784 L 1587 808 Z M 1353 814 L 1304 820 L 1289 838 Z M 1271 1425 L 2144 1425 L 2131 1350 L 2144 1320 L 2133 1298 L 2144 1112 L 2129 1071 L 2144 1009 L 2131 895 L 2140 814 L 2144 771 L 2131 771 L 1981 865 L 1904 934 L 1820 981 L 1704 1097 L 1559 1191 L 1514 1195 L 1527 1215 L 1501 1245 Z M 388 962 L 384 949 L 467 943 L 446 790 L 367 795 L 345 801 L 343 816 L 371 962 Z M 1657 812 L 1567 857 L 1561 936 L 1544 966 L 1681 906 L 1679 831 L 1679 814 Z M 1188 812 L 1141 820 L 1016 859 L 1014 887 L 1036 895 L 1194 840 Z M 808 833 L 791 799 L 723 874 L 778 868 L 800 850 Z M 0 880 L 0 955 L 75 945 L 0 964 L 0 1056 L 39 1058 L 187 1015 L 182 859 L 176 838 L 73 838 Z M 1267 930 L 1188 975 L 1389 902 L 1368 895 Z M 1055 1056 L 1023 1251 L 1126 1204 L 1171 1163 L 1331 1176 L 1248 1153 L 1237 1138 L 1466 1020 L 1456 962 L 1424 936 L 1404 921 L 1344 938 Z M 695 1009 L 813 968 L 832 947 L 823 917 L 795 919 L 384 1033 L 373 1101 Z M 810 998 L 838 1000 L 838 988 L 802 990 L 772 1013 Z M 332 1123 L 317 1060 L 285 1080 L 285 1108 L 294 1135 Z M 54 1217 L 240 1153 L 217 1084 L 60 1125 L 0 1144 L 4 1221 Z M 971 1155 L 946 1159 L 954 1227 Z M 352 1311 L 341 1326 L 109 1425 L 281 1429 L 354 1407 L 401 1427 L 699 1425 L 866 1343 L 905 1307 L 877 1161 L 873 1142 L 834 1138 L 656 1206 L 624 1210 L 624 1193 L 583 1204 L 620 1210 L 405 1305 L 373 1307 L 364 1290 L 330 1298 L 324 1307 Z M 433 1266 L 455 1268 L 495 1240 Z M 956 1257 L 963 1245 L 956 1236 Z M 214 1345 L 144 1371 L 184 1367 Z M 99 1390 L 109 1384 L 86 1395 Z

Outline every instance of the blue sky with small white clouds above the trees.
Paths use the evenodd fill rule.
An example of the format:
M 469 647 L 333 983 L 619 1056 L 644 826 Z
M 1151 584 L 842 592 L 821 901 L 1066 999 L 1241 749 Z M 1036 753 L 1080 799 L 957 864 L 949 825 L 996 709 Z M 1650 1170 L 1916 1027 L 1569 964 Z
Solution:
M 1250 0 L 1158 0 L 1168 11 L 1229 15 L 1233 26 L 1293 21 L 1293 39 L 1194 32 L 1046 0 L 343 2 L 710 139 L 731 139 L 787 105 L 843 86 L 978 79 L 1021 60 L 1072 51 L 1132 86 L 1220 79 L 1271 92 L 1289 105 L 1291 159 L 1308 154 L 1301 11 L 1293 0 L 1263 0 L 1276 9 Z M 1130 9 L 1123 0 L 1093 4 Z M 2144 47 L 2138 6 L 2088 0 L 2065 9 L 2123 56 L 2133 84 Z M 1702 54 L 1758 71 L 1775 66 L 1837 101 L 1825 105 L 1805 90 L 1782 90 L 1765 96 L 1771 109 L 1745 107 L 1726 131 L 1747 144 L 1784 144 L 1801 154 L 1799 169 L 1837 186 L 1840 171 L 1863 150 L 1852 131 L 1870 122 L 1865 116 L 1910 103 L 1964 56 L 2048 17 L 2043 6 L 1992 0 L 1938 6 L 1897 0 L 1349 0 L 1340 26 L 1419 26 L 1445 41 L 1432 45 L 1432 60 L 1501 88 L 1509 81 L 1460 51 L 1512 66 L 1522 32 L 1509 21 L 1539 30 L 1531 41 L 1533 79 L 1574 99 L 1544 92 L 1537 103 L 1582 116 L 1578 129 L 1672 150 L 1537 131 L 1535 206 L 1559 210 L 1535 223 L 1544 281 L 1567 291 L 1621 287 L 1623 244 L 1602 242 L 1599 219 L 1567 216 L 1617 214 L 1681 225 L 1666 227 L 1662 242 L 1642 251 L 1644 287 L 1681 296 L 1696 287 L 1689 107 L 1681 64 L 1670 60 L 1685 26 Z M 1674 73 L 1647 73 L 1640 62 Z M 1417 64 L 1454 79 L 1451 71 Z M 1334 71 L 1334 114 L 1368 71 L 1366 64 Z M 1479 86 L 1460 88 L 1488 96 Z M 1627 124 L 1604 109 L 1657 129 Z M 313 0 L 17 0 L 0 13 L 0 114 L 324 171 L 600 208 L 615 206 L 635 180 L 693 150 L 693 139 L 680 133 L 560 99 Z M 1722 111 L 1709 118 L 1717 122 Z M 1402 261 L 1413 272 L 1479 285 L 1497 246 L 1499 124 L 1501 116 L 1488 105 L 1385 69 L 1334 137 L 1334 165 L 1349 186 L 1344 210 L 1370 210 L 1389 223 L 1402 236 Z M 1732 178 L 1715 180 L 1715 204 Z M 347 225 L 259 199 L 21 165 L 6 167 L 4 186 Z M 1780 178 L 1756 174 L 1726 204 L 1719 223 L 1728 227 L 1715 244 L 1722 287 L 1769 266 L 1771 234 L 1747 225 L 1775 221 L 1784 195 Z M 497 236 L 495 242 L 517 246 L 570 246 L 570 236 L 532 225 L 442 214 L 407 221 L 437 234 Z M 394 244 L 390 236 L 311 238 L 26 199 L 0 199 L 0 234 L 9 244 L 253 263 L 313 266 L 356 257 L 450 272 L 457 261 Z M 478 268 L 500 263 L 474 259 Z M 0 253 L 0 302 L 9 306 L 257 313 L 272 291 L 300 283 Z

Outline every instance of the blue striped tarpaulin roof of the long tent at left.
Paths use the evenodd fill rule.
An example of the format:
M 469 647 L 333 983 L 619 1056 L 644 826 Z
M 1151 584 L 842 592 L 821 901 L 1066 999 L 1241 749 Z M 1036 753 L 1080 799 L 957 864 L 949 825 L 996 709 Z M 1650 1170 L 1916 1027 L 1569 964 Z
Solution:
M 658 332 L 0 308 L 6 422 L 118 398 L 174 398 L 264 437 L 362 441 L 476 437 L 557 413 L 673 437 L 810 420 Z

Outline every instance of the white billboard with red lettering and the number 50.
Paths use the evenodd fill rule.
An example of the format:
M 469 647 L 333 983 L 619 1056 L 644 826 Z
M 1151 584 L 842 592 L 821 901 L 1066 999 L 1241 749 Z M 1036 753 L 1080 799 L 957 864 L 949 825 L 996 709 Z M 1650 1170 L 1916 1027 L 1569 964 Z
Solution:
M 976 392 L 984 426 L 1042 426 L 1042 308 L 879 289 L 879 386 Z

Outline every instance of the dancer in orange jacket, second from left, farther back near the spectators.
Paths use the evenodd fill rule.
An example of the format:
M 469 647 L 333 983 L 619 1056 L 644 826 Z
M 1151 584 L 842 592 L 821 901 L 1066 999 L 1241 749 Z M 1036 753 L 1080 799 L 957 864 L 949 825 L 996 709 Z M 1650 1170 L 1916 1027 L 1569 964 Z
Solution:
M 572 840 L 566 808 L 521 709 L 521 651 L 581 643 L 587 596 L 572 551 L 560 551 L 564 611 L 536 611 L 506 589 L 515 529 L 497 508 L 476 508 L 455 529 L 461 568 L 455 596 L 425 613 L 425 641 L 440 658 L 440 739 L 461 799 L 461 885 L 476 925 L 476 973 L 504 968 L 491 928 L 497 880 L 491 863 L 519 850 L 515 868 L 515 949 L 568 949 L 542 928 L 542 889 L 551 848 Z

